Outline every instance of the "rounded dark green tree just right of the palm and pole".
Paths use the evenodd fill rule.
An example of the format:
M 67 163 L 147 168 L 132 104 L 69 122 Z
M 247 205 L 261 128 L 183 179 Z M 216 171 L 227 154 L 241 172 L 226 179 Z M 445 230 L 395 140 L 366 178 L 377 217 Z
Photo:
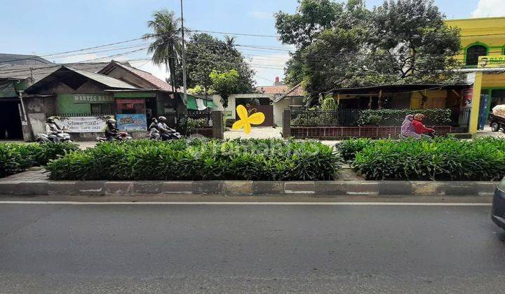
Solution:
M 195 34 L 187 43 L 186 68 L 188 87 L 203 87 L 207 94 L 213 87 L 210 73 L 234 70 L 238 73 L 237 90 L 243 93 L 254 90 L 254 71 L 241 52 L 234 47 L 234 39 L 221 41 L 209 34 Z M 182 71 L 177 74 L 182 77 Z M 215 89 L 215 88 L 214 88 Z M 217 89 L 215 89 L 217 90 Z

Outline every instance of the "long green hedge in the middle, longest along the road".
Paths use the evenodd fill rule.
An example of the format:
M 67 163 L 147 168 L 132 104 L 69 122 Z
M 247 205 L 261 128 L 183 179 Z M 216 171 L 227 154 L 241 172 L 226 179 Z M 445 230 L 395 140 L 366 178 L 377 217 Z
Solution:
M 105 142 L 49 163 L 53 180 L 331 180 L 341 159 L 316 141 Z

